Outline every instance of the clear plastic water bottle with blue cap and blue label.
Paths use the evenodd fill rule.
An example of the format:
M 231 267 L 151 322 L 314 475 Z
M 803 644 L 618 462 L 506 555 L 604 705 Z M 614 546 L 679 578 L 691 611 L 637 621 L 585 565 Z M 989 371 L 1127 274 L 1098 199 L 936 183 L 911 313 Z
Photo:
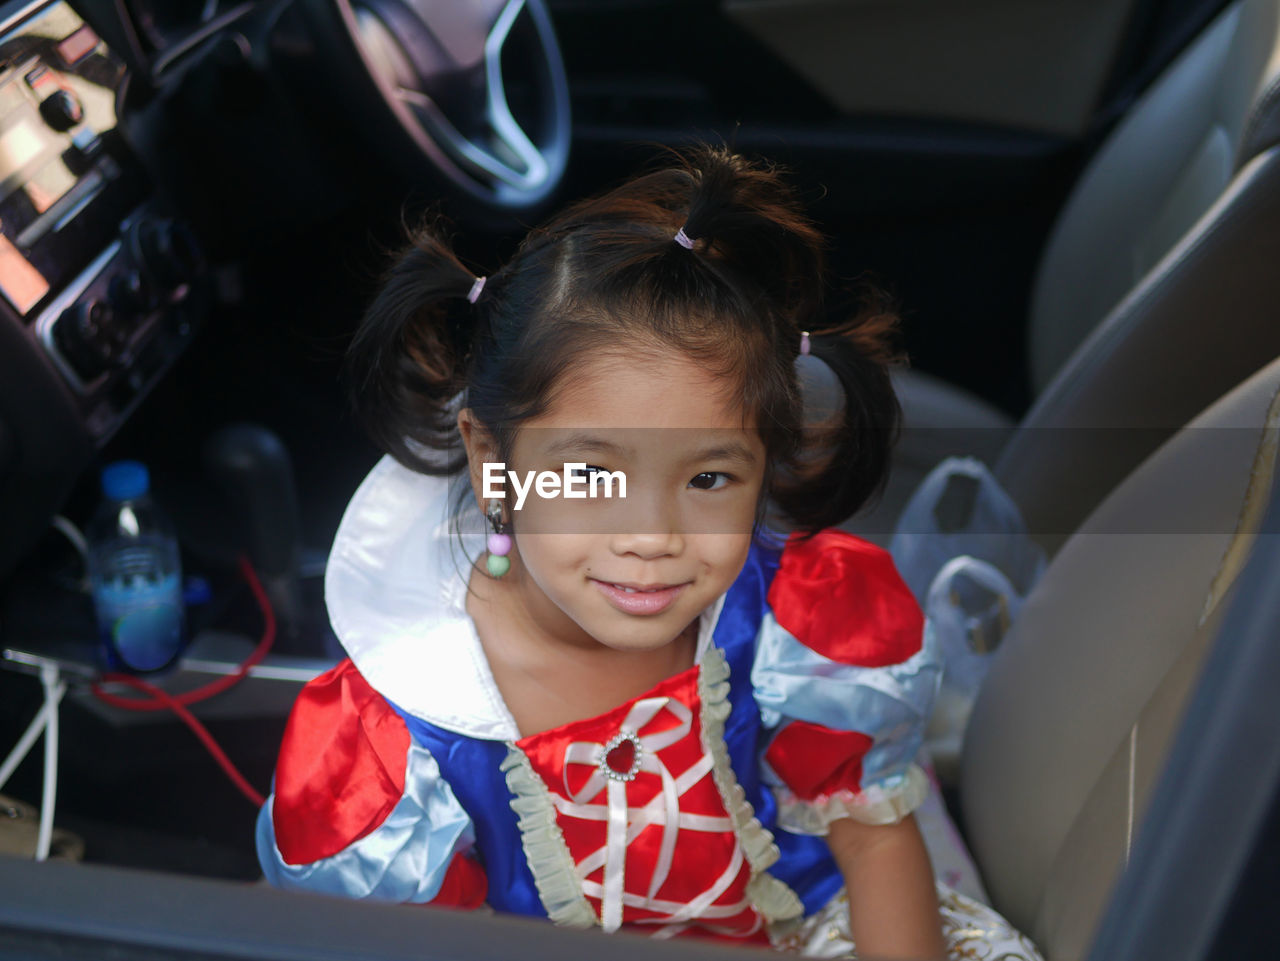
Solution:
M 102 505 L 86 531 L 99 637 L 116 671 L 160 671 L 186 642 L 178 540 L 151 502 L 137 461 L 102 471 Z

